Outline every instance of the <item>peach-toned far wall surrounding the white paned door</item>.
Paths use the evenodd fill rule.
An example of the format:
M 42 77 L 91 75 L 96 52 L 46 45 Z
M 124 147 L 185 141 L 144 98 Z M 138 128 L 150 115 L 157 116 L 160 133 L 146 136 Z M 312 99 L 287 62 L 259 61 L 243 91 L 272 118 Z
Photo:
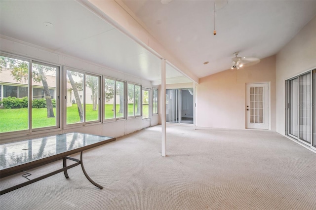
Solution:
M 245 129 L 246 83 L 270 83 L 271 130 L 276 130 L 276 59 L 239 70 L 225 70 L 199 79 L 197 128 Z

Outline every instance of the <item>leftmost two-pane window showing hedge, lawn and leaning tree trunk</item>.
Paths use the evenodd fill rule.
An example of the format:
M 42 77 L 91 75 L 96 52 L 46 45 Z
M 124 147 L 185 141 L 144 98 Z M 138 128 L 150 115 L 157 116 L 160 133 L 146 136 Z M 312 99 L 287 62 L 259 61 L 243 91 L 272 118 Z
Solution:
M 59 67 L 0 56 L 0 68 L 0 133 L 58 128 Z

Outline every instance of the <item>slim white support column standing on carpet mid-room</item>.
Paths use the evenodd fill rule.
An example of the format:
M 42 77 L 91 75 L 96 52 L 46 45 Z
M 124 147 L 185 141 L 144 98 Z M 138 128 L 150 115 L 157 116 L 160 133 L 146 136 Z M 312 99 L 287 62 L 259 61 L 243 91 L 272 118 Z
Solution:
M 166 156 L 166 60 L 161 59 L 161 155 Z

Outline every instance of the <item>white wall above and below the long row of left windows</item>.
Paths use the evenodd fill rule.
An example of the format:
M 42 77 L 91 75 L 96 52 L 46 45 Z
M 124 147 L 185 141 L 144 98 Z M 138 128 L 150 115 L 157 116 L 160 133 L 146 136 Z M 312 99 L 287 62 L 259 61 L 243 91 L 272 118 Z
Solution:
M 0 38 L 0 51 L 7 54 L 12 54 L 15 56 L 21 56 L 28 59 L 33 59 L 36 61 L 40 61 L 43 63 L 49 63 L 60 67 L 69 67 L 72 69 L 84 70 L 87 72 L 91 72 L 97 75 L 105 75 L 113 78 L 117 78 L 127 82 L 133 82 L 137 84 L 141 84 L 146 88 L 151 88 L 151 82 L 148 80 L 143 80 L 141 78 L 135 77 L 133 75 L 124 74 L 117 70 L 112 70 L 103 66 L 99 66 L 93 63 L 89 63 L 78 58 L 70 57 L 68 55 L 56 53 L 51 50 L 47 50 L 41 48 L 39 46 L 35 46 L 23 41 L 11 39 L 9 37 Z M 62 68 L 61 68 L 62 70 Z M 63 111 L 61 110 L 61 119 L 63 118 Z M 158 116 L 154 116 L 151 121 L 151 126 L 158 124 Z M 40 136 L 61 134 L 66 132 L 85 132 L 96 135 L 105 135 L 112 137 L 123 136 L 138 130 L 141 130 L 142 126 L 142 118 L 127 118 L 122 120 L 114 120 L 111 122 L 104 123 L 93 123 L 86 124 L 84 126 L 72 126 L 72 127 L 62 127 L 62 129 L 54 129 L 41 132 L 34 132 L 31 135 L 28 135 L 28 138 L 37 138 Z M 14 134 L 10 136 L 1 135 L 0 141 L 1 143 L 12 141 L 12 140 L 23 140 L 25 139 L 25 134 Z

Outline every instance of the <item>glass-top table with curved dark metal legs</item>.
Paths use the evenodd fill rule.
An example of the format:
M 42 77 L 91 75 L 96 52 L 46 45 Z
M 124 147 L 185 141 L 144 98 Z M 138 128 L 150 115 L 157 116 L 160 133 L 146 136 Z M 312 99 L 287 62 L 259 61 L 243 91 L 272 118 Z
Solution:
M 0 144 L 0 178 L 25 172 L 26 174 L 22 176 L 28 179 L 26 182 L 1 190 L 0 195 L 60 172 L 64 172 L 65 177 L 69 178 L 67 170 L 78 165 L 81 165 L 86 178 L 92 184 L 102 189 L 101 185 L 94 182 L 87 175 L 83 167 L 82 152 L 114 140 L 116 138 L 73 132 Z M 80 160 L 69 157 L 69 155 L 78 152 L 80 152 Z M 31 174 L 26 172 L 26 170 L 61 159 L 63 160 L 63 168 L 34 179 L 29 179 L 28 176 Z M 75 161 L 75 163 L 67 166 L 67 159 Z

